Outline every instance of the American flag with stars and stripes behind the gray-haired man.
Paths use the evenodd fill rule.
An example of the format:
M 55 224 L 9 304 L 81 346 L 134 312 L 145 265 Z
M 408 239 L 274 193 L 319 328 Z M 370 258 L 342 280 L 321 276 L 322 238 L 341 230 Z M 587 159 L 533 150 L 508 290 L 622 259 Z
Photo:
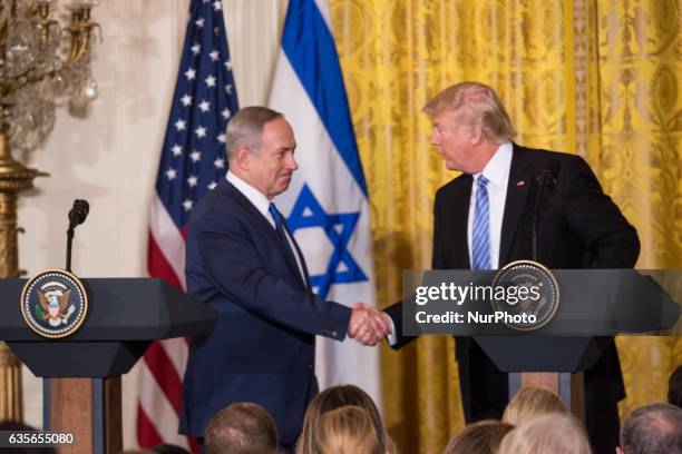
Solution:
M 149 276 L 185 289 L 185 234 L 192 206 L 227 171 L 225 127 L 238 109 L 222 0 L 192 0 L 170 117 L 166 127 L 149 223 Z M 137 408 L 140 447 L 174 443 L 178 435 L 184 338 L 155 342 L 144 355 Z

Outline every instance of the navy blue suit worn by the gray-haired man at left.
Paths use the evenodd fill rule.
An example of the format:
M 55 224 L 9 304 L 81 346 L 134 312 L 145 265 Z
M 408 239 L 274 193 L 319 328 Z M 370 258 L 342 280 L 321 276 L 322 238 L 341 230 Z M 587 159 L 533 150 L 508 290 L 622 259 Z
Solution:
M 276 230 L 226 180 L 194 207 L 187 231 L 187 292 L 218 319 L 192 339 L 181 433 L 203 436 L 218 411 L 254 402 L 293 444 L 318 393 L 314 336 L 343 339 L 351 310 L 305 288 Z

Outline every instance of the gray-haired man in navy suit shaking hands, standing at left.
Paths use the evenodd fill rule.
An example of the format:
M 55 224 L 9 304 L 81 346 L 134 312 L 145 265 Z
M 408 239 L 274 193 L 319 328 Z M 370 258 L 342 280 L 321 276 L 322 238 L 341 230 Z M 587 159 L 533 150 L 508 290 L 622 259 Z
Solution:
M 313 293 L 305 258 L 273 204 L 298 168 L 282 114 L 240 110 L 226 142 L 226 178 L 196 204 L 187 224 L 187 292 L 218 318 L 189 346 L 181 433 L 202 443 L 221 408 L 254 402 L 273 415 L 280 444 L 291 451 L 318 393 L 315 335 L 373 345 L 390 327 L 372 307 L 351 309 Z

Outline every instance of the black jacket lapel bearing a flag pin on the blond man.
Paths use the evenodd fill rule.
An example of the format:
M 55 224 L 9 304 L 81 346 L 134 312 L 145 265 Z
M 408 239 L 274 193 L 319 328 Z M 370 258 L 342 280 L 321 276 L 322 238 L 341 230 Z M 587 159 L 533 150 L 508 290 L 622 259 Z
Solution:
M 528 198 L 528 191 L 533 181 L 534 174 L 530 162 L 526 159 L 524 149 L 514 144 L 512 155 L 512 168 L 509 169 L 509 182 L 507 185 L 507 199 L 505 200 L 505 214 L 503 217 L 501 237 L 499 241 L 499 267 L 507 264 L 512 241 L 518 230 Z

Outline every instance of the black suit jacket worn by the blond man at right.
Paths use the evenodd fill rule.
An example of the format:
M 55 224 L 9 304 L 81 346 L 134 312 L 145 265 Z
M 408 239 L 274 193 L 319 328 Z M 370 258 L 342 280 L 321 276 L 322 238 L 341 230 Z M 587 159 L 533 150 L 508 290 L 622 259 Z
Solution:
M 549 268 L 631 268 L 640 254 L 636 230 L 604 194 L 583 158 L 514 144 L 503 216 L 499 265 L 530 259 L 537 178 L 545 169 L 556 177 L 540 207 L 537 260 Z M 468 269 L 467 220 L 474 177 L 462 174 L 436 193 L 433 204 L 433 269 Z M 522 185 L 518 185 L 523 181 Z M 394 348 L 412 338 L 400 336 L 401 304 L 387 309 L 399 335 Z M 457 359 L 483 354 L 469 337 L 458 337 Z M 469 377 L 470 378 L 470 377 Z M 625 396 L 613 339 L 602 358 L 585 373 L 586 412 Z M 466 398 L 466 396 L 465 396 Z M 592 403 L 592 404 L 591 404 Z M 601 405 L 601 404 L 600 404 Z M 598 405 L 597 405 L 598 406 Z

